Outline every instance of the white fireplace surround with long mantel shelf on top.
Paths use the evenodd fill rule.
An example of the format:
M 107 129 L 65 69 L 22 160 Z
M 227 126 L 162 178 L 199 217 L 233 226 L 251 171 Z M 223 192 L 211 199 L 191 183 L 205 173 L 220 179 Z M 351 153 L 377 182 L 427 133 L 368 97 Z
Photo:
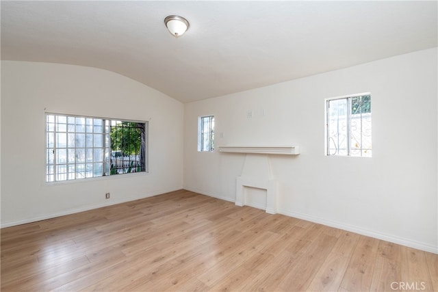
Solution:
M 298 155 L 298 146 L 219 146 L 219 151 L 246 155 L 242 174 L 236 178 L 235 204 L 246 204 L 249 188 L 266 189 L 266 213 L 276 214 L 278 181 L 272 175 L 270 155 Z

